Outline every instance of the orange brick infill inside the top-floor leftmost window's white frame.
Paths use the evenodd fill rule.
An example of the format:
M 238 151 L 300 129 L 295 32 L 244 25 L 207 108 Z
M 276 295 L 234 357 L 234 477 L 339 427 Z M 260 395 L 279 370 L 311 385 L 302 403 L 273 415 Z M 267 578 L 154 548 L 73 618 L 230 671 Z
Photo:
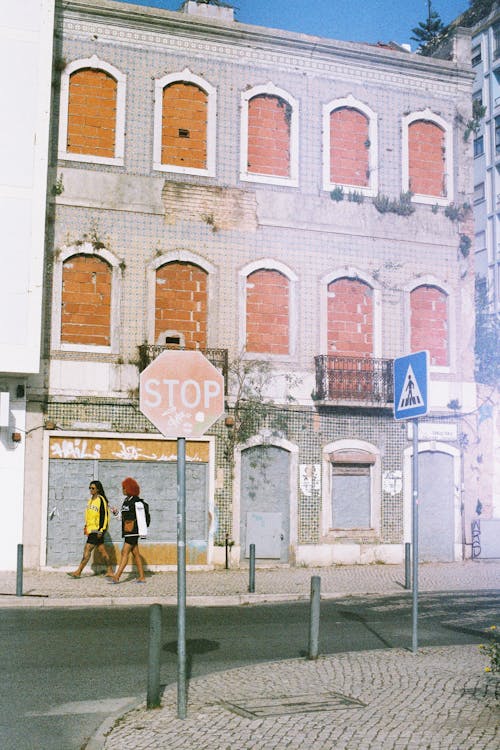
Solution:
M 117 82 L 103 70 L 70 76 L 66 150 L 112 158 L 115 154 Z

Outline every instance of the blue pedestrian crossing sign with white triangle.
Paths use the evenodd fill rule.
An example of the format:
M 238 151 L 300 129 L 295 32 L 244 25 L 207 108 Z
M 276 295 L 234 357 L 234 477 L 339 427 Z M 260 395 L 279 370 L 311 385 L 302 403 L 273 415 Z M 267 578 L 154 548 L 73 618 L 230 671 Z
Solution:
M 394 419 L 427 414 L 429 352 L 414 352 L 394 360 Z

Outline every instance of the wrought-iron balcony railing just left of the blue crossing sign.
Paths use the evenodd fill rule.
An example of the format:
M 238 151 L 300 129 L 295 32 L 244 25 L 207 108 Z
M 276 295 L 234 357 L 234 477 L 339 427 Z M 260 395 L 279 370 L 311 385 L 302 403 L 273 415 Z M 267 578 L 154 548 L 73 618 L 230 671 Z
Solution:
M 318 401 L 365 406 L 394 401 L 392 359 L 320 354 L 314 362 Z

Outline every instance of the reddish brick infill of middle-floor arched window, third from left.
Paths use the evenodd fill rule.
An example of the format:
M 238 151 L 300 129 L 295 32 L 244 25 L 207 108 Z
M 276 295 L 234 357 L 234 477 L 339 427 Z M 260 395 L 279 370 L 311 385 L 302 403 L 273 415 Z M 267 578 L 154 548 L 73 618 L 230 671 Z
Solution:
M 259 269 L 246 281 L 246 350 L 288 354 L 290 281 L 279 271 Z

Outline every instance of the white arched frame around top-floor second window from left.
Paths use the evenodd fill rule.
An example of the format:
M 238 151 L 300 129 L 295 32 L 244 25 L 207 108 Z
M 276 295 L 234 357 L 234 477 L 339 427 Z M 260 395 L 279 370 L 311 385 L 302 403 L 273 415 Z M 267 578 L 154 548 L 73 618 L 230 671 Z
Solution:
M 191 83 L 207 95 L 207 157 L 206 167 L 180 167 L 162 163 L 162 131 L 163 131 L 163 90 L 173 83 Z M 217 90 L 197 75 L 184 68 L 181 73 L 170 73 L 155 81 L 154 95 L 154 129 L 153 129 L 153 169 L 159 172 L 175 172 L 177 174 L 197 174 L 205 177 L 215 176 L 216 158 L 216 126 L 217 126 Z

